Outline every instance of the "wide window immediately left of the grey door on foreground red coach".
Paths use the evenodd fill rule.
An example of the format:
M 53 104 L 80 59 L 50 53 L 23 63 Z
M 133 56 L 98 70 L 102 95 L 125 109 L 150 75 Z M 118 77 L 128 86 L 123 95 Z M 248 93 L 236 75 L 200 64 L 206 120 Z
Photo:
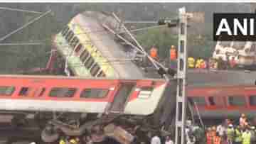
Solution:
M 81 98 L 103 98 L 107 96 L 108 89 L 84 89 L 80 97 Z

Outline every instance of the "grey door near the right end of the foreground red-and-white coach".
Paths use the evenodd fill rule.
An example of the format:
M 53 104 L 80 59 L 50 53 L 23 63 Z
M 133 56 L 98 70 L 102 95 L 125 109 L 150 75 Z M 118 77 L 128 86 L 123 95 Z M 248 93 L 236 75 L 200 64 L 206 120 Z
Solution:
M 120 113 L 124 110 L 124 105 L 129 99 L 129 95 L 132 94 L 135 85 L 136 84 L 121 84 L 117 94 L 114 96 L 114 101 L 110 107 L 111 113 Z

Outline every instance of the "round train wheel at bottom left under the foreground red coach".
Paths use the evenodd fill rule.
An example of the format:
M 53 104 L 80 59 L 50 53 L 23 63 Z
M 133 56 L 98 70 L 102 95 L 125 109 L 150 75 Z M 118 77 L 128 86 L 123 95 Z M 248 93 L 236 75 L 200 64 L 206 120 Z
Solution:
M 53 126 L 46 126 L 41 133 L 41 138 L 46 143 L 55 142 L 59 136 L 59 133 L 53 129 Z

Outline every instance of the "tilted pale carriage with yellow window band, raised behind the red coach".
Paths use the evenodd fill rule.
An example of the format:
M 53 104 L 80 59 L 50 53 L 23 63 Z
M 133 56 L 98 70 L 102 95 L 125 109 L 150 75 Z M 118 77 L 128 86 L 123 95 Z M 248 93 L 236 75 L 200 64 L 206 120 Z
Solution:
M 145 78 L 143 71 L 134 63 L 137 57 L 134 48 L 105 27 L 130 39 L 127 34 L 121 34 L 124 29 L 112 15 L 95 11 L 79 13 L 55 35 L 53 48 L 68 62 L 71 75 Z M 51 58 L 49 64 L 54 60 Z

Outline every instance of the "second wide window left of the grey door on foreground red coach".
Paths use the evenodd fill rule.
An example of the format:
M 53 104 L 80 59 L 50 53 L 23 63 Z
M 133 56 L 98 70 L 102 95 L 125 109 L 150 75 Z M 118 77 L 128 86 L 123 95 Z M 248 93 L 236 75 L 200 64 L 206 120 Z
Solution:
M 50 90 L 49 96 L 51 97 L 72 97 L 75 95 L 75 88 L 54 87 Z

